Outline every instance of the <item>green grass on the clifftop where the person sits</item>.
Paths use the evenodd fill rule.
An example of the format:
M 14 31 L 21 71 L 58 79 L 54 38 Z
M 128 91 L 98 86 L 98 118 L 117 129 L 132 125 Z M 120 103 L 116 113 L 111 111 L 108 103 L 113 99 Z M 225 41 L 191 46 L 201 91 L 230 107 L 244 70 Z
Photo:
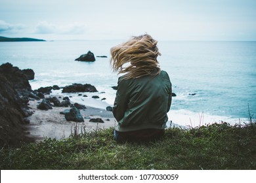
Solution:
M 256 124 L 166 129 L 160 141 L 117 144 L 113 128 L 0 150 L 0 169 L 256 169 Z

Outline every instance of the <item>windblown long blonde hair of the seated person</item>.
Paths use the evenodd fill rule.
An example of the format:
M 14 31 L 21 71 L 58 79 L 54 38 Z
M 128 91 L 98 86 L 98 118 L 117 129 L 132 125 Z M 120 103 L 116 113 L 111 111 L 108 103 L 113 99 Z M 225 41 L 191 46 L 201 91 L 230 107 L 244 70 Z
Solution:
M 129 41 L 114 46 L 110 49 L 110 64 L 113 71 L 118 74 L 126 73 L 125 79 L 139 78 L 141 76 L 155 75 L 160 73 L 160 66 L 157 60 L 161 56 L 158 52 L 158 41 L 150 35 L 132 37 Z M 125 67 L 125 63 L 129 63 Z

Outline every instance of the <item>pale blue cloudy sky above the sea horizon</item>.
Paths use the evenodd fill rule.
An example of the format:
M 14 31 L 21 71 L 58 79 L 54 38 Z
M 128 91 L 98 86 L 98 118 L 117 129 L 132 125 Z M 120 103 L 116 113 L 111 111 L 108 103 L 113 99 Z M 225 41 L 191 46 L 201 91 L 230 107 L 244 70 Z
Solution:
M 0 36 L 256 41 L 255 0 L 0 0 Z

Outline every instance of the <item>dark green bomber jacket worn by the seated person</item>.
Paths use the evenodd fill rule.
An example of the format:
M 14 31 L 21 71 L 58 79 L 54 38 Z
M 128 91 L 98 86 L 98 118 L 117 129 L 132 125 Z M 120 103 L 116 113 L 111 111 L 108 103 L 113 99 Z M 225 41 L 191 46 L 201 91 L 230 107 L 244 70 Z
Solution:
M 164 129 L 171 107 L 171 81 L 165 71 L 156 76 L 118 79 L 113 114 L 117 131 Z

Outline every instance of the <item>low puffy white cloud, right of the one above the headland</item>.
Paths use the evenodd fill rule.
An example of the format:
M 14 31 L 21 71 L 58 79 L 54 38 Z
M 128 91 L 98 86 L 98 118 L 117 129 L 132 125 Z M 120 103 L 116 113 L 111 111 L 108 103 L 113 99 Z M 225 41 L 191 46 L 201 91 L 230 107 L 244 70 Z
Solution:
M 75 22 L 73 24 L 68 25 L 53 25 L 49 24 L 46 21 L 39 22 L 35 27 L 35 33 L 38 34 L 83 34 L 87 31 L 87 25 L 79 24 Z

